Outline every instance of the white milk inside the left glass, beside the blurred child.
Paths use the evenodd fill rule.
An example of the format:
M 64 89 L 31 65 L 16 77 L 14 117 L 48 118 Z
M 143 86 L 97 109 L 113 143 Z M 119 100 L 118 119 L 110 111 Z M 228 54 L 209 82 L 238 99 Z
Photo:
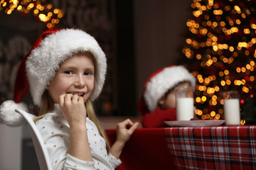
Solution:
M 193 118 L 193 98 L 176 98 L 177 120 L 191 120 Z

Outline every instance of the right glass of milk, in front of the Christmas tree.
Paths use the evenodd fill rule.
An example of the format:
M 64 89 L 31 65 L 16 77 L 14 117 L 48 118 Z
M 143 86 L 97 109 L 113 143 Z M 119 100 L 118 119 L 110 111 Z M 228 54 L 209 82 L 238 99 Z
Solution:
M 238 91 L 223 92 L 225 125 L 240 125 L 240 104 Z

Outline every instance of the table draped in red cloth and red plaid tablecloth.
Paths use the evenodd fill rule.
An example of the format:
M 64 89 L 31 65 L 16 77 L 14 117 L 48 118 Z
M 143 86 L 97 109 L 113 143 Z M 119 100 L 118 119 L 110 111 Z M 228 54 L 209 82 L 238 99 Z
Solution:
M 105 130 L 110 145 L 115 130 Z M 120 156 L 123 169 L 256 169 L 256 126 L 140 128 Z

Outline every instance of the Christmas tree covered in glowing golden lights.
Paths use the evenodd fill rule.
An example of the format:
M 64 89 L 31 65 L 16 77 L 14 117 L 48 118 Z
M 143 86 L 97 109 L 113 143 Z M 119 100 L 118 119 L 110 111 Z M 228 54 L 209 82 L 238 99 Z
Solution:
M 182 50 L 186 59 L 182 62 L 188 64 L 198 81 L 195 92 L 198 118 L 223 119 L 221 94 L 237 90 L 241 118 L 256 123 L 255 23 L 255 0 L 191 3 L 186 45 Z

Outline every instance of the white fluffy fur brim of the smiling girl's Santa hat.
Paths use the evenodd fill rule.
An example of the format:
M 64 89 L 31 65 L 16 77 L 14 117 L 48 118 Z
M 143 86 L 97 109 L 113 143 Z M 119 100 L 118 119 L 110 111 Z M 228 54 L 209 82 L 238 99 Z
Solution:
M 41 96 L 59 65 L 77 52 L 90 51 L 95 57 L 95 88 L 90 99 L 95 100 L 102 91 L 107 70 L 105 53 L 95 38 L 82 30 L 63 29 L 44 38 L 32 50 L 26 61 L 26 72 L 33 102 L 41 106 Z

